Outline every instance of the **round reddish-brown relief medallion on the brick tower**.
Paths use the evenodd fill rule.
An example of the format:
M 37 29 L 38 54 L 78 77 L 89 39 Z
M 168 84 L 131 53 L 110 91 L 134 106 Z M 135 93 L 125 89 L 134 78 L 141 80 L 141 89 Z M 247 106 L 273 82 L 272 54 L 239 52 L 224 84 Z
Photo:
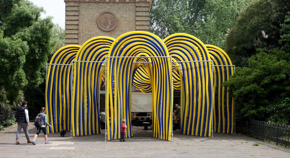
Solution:
M 112 31 L 117 26 L 117 17 L 113 12 L 104 11 L 99 14 L 97 24 L 103 31 Z

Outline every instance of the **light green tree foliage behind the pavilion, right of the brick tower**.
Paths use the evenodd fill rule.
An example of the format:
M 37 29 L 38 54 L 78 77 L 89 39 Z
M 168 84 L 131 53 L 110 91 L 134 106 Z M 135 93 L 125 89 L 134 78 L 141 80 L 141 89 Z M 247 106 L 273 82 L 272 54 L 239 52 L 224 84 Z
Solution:
M 151 9 L 151 32 L 160 38 L 174 33 L 196 36 L 206 44 L 223 48 L 249 0 L 158 0 Z

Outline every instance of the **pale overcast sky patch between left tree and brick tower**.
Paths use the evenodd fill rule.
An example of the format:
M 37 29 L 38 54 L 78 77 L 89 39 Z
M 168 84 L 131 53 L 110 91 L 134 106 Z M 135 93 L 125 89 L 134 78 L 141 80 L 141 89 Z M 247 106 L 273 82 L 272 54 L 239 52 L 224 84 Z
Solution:
M 52 16 L 52 22 L 64 28 L 65 3 L 64 0 L 29 0 L 39 7 L 43 7 L 46 14 L 41 14 L 41 18 Z

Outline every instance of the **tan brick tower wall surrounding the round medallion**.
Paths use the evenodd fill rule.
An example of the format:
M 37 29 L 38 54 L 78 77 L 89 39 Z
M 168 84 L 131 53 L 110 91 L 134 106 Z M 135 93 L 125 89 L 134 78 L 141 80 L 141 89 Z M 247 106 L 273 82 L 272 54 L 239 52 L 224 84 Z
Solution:
M 96 36 L 117 38 L 129 31 L 149 31 L 150 0 L 65 0 L 65 44 L 82 45 Z M 116 14 L 118 23 L 112 31 L 103 31 L 97 17 L 103 11 Z

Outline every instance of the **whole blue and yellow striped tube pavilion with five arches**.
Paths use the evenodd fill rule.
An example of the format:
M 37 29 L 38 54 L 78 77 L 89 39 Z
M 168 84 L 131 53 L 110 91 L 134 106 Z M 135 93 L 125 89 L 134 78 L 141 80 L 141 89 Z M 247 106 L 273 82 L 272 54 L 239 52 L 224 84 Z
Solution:
M 67 45 L 47 64 L 46 113 L 53 126 L 48 131 L 71 131 L 73 137 L 100 134 L 99 97 L 106 86 L 106 138 L 120 138 L 123 119 L 126 137 L 132 137 L 134 85 L 152 93 L 154 138 L 172 140 L 174 90 L 181 94 L 181 134 L 234 133 L 234 99 L 222 85 L 233 73 L 222 49 L 189 34 L 162 40 L 131 31 L 117 39 L 98 36 L 82 46 Z

